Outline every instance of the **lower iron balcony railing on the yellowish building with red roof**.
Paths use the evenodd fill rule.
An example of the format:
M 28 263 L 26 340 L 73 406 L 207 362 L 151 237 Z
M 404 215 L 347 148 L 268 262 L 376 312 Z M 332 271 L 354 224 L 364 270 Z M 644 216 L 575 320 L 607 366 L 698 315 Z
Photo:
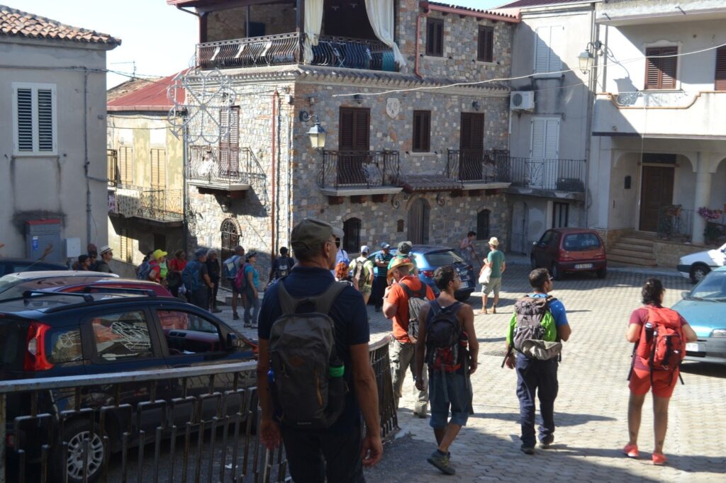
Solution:
M 126 218 L 144 218 L 162 223 L 184 219 L 181 189 L 118 185 L 115 206 L 110 206 L 109 210 Z

